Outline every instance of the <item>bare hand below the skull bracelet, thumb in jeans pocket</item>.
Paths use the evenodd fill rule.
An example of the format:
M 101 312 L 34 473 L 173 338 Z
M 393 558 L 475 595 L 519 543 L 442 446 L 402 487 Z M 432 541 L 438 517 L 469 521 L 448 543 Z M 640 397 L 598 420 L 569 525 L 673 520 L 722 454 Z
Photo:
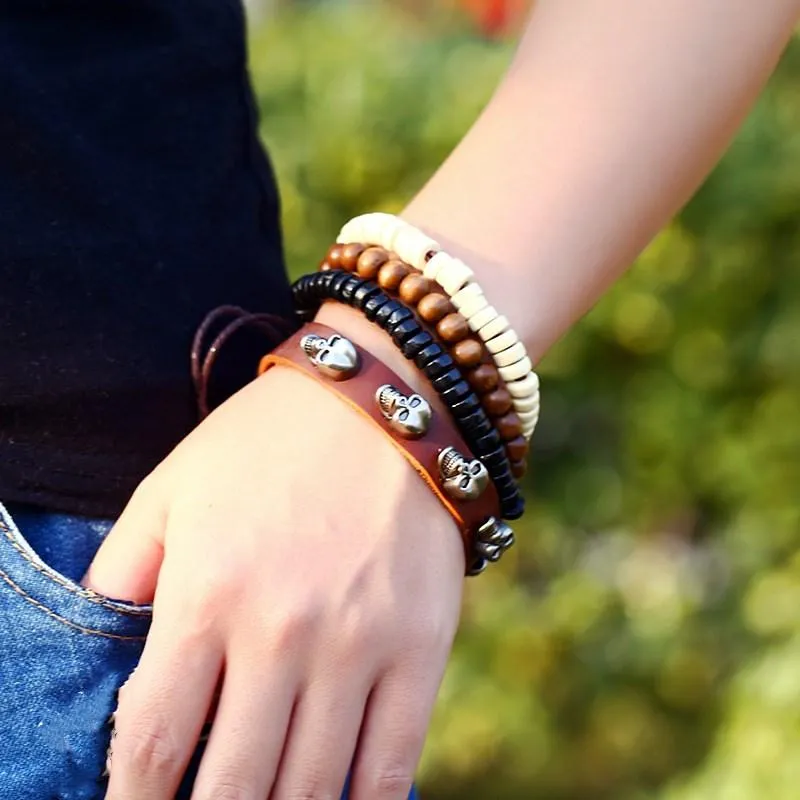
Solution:
M 457 627 L 464 557 L 395 448 L 274 369 L 148 477 L 86 582 L 147 602 L 120 692 L 111 800 L 406 798 Z

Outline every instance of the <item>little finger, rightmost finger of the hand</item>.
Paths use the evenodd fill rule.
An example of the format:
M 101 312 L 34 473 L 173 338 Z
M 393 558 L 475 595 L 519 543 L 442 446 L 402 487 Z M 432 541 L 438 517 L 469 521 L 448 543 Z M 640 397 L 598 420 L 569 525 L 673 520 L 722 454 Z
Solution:
M 432 674 L 439 673 L 430 665 L 397 668 L 373 690 L 353 765 L 350 800 L 409 796 L 439 688 Z

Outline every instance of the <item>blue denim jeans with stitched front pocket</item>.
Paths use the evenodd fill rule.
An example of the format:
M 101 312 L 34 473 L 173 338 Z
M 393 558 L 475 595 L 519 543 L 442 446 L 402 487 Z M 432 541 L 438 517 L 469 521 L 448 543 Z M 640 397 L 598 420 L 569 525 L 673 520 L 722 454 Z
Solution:
M 111 525 L 0 504 L 2 798 L 104 796 L 109 717 L 151 618 L 149 606 L 79 585 Z M 200 755 L 178 798 L 188 800 Z

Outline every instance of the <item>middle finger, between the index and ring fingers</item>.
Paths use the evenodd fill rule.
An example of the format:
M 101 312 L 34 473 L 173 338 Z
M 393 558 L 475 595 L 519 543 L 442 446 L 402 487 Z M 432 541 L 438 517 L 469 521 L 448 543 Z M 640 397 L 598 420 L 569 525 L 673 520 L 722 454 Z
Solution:
M 230 658 L 192 800 L 265 800 L 297 697 L 294 659 Z

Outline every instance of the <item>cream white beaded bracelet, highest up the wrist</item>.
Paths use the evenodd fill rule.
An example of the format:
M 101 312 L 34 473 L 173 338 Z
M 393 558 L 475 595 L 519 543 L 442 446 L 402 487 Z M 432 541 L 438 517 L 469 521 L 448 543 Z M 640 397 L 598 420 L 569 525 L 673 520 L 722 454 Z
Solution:
M 539 379 L 525 346 L 509 321 L 484 297 L 472 270 L 443 252 L 434 239 L 392 214 L 355 217 L 342 228 L 336 241 L 381 245 L 444 289 L 469 327 L 486 343 L 511 393 L 523 433 L 530 439 L 539 419 Z

